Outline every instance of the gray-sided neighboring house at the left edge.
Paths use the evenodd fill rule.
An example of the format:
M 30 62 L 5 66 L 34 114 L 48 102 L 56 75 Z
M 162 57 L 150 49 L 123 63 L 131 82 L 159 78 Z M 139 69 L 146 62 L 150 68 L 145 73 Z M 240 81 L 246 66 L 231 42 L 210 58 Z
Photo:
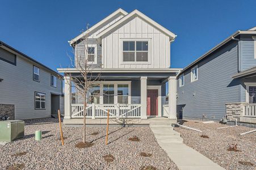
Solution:
M 0 41 L 0 114 L 11 119 L 63 113 L 61 75 Z

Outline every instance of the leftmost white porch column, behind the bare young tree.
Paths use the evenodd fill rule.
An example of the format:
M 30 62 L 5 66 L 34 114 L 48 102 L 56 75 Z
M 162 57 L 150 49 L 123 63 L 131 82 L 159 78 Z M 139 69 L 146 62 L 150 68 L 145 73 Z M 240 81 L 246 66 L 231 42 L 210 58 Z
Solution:
M 72 95 L 72 88 L 70 84 L 70 76 L 64 76 L 64 93 L 65 93 L 65 116 L 64 118 L 71 118 L 71 95 Z

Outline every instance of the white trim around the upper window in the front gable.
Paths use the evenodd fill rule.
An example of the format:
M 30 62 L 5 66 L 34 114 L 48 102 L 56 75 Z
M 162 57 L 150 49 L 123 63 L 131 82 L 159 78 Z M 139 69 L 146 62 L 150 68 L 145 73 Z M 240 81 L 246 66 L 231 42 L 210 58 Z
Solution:
M 121 65 L 148 65 L 151 63 L 151 39 L 119 39 L 119 61 Z M 148 41 L 148 61 L 123 61 L 123 41 Z M 136 49 L 136 42 L 135 42 Z M 136 55 L 135 55 L 136 59 Z

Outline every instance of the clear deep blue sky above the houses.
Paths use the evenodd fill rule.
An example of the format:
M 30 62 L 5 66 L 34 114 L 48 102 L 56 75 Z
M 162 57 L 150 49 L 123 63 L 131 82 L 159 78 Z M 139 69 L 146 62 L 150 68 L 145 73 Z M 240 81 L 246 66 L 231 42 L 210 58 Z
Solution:
M 56 70 L 69 65 L 68 40 L 87 23 L 94 25 L 117 8 L 137 9 L 178 35 L 171 67 L 182 68 L 238 29 L 255 27 L 255 7 L 255 0 L 0 0 L 0 40 Z

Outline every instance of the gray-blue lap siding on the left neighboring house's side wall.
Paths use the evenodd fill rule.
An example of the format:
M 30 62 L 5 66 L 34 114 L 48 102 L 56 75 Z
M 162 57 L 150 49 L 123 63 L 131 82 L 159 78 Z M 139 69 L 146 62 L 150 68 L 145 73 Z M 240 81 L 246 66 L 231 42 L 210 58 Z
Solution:
M 40 82 L 33 80 L 33 63 L 17 56 L 17 65 L 0 60 L 0 103 L 15 105 L 15 119 L 51 116 L 51 92 L 61 94 L 62 82 L 57 78 L 57 87 L 51 87 L 51 73 L 40 68 Z M 35 91 L 46 94 L 46 109 L 35 109 Z

